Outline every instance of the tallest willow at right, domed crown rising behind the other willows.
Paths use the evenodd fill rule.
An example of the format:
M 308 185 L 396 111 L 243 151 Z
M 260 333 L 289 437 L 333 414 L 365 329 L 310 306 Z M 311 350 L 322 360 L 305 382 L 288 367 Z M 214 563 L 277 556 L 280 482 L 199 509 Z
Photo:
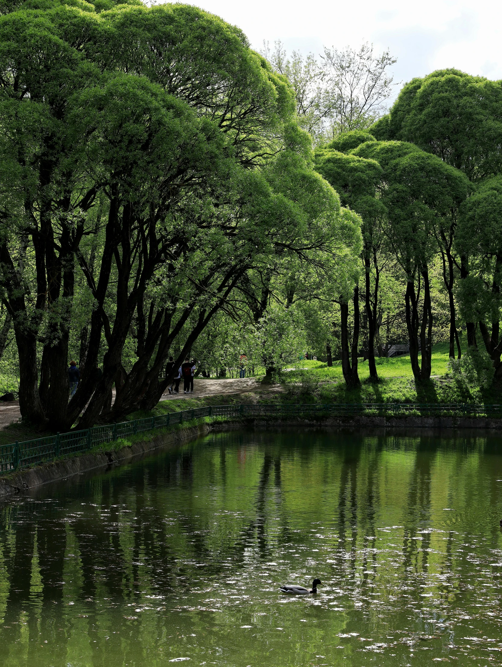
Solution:
M 496 175 L 502 169 L 502 87 L 499 81 L 474 77 L 457 69 L 440 69 L 407 83 L 389 115 L 373 125 L 378 139 L 411 141 L 445 163 L 463 171 L 471 181 Z M 443 281 L 449 295 L 449 356 L 455 358 L 455 272 L 469 275 L 467 255 L 455 253 L 458 211 L 437 227 L 443 259 Z M 475 343 L 475 323 L 466 322 L 467 341 Z

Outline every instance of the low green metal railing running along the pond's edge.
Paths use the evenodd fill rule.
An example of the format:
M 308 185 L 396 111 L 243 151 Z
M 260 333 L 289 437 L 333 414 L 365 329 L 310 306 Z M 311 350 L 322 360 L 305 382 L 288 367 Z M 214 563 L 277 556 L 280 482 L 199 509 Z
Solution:
M 357 416 L 406 415 L 421 416 L 498 416 L 502 406 L 465 403 L 331 403 L 331 404 L 248 404 L 233 406 L 205 406 L 181 412 L 147 417 L 145 419 L 95 426 L 83 431 L 58 433 L 55 436 L 0 445 L 0 474 L 23 470 L 41 463 L 89 451 L 120 438 L 137 436 L 156 429 L 170 428 L 191 420 L 209 418 L 301 417 L 309 415 Z

